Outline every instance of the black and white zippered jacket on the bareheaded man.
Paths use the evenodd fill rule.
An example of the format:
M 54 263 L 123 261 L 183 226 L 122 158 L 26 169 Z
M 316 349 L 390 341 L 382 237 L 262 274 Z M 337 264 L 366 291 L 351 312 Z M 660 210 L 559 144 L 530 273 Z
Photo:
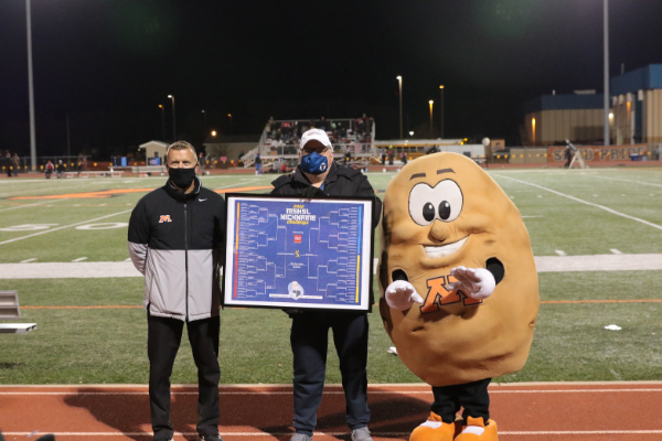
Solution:
M 168 181 L 142 197 L 128 245 L 145 275 L 145 309 L 182 321 L 218 315 L 224 240 L 225 201 L 197 178 L 189 194 Z

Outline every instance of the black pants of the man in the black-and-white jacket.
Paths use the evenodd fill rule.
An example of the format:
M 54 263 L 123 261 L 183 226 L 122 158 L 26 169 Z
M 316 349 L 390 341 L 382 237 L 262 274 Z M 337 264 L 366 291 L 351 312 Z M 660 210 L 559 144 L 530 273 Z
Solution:
M 170 440 L 170 374 L 182 340 L 184 322 L 149 315 L 147 352 L 149 355 L 149 405 L 156 441 Z M 218 330 L 220 318 L 186 322 L 189 342 L 197 367 L 197 433 L 218 434 Z

